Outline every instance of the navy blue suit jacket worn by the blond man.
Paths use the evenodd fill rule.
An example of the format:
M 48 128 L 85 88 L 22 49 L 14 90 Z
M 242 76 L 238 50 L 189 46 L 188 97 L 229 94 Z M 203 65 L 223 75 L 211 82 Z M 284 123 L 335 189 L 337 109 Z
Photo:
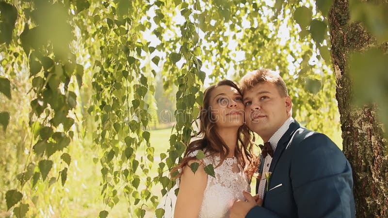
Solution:
M 263 163 L 261 158 L 260 172 Z M 269 171 L 263 205 L 252 208 L 246 218 L 355 217 L 352 169 L 322 133 L 293 121 L 277 144 Z

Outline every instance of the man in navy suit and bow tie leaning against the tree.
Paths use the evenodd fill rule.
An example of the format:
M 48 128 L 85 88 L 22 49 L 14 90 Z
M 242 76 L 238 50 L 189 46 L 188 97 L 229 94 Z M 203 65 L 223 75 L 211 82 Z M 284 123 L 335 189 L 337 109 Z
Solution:
M 262 69 L 240 83 L 246 124 L 265 143 L 256 186 L 259 199 L 244 192 L 247 201 L 234 202 L 230 217 L 354 218 L 348 160 L 327 136 L 301 127 L 291 117 L 283 79 Z

